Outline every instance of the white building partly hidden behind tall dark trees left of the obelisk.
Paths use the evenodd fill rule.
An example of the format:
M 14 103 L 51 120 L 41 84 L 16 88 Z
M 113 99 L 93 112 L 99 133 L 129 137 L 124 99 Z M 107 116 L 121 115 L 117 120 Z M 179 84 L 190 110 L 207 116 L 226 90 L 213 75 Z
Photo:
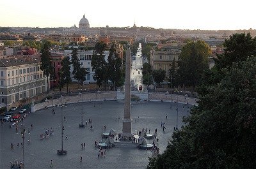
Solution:
M 72 50 L 64 50 L 64 56 L 69 57 L 70 61 L 72 59 L 71 53 L 72 53 Z M 88 51 L 78 50 L 77 51 L 77 57 L 80 60 L 81 67 L 85 68 L 89 72 L 89 74 L 86 75 L 86 81 L 85 81 L 86 84 L 88 84 L 89 82 L 94 82 L 93 76 L 95 75 L 95 72 L 93 71 L 92 64 L 91 64 L 92 63 L 92 55 L 93 55 L 93 50 L 88 50 Z M 109 51 L 104 51 L 103 55 L 104 55 L 105 61 L 108 61 Z M 74 69 L 74 67 L 71 64 L 71 69 L 70 69 L 71 78 L 72 78 L 73 82 L 76 82 L 77 80 L 75 80 L 72 75 L 73 69 Z

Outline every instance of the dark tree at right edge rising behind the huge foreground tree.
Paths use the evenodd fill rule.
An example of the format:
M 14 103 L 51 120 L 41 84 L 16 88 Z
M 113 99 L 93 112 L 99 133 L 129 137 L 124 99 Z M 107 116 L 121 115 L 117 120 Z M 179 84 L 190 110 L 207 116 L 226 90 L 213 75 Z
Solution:
M 252 38 L 250 33 L 232 34 L 223 44 L 224 54 L 217 55 L 214 59 L 218 70 L 230 68 L 232 64 L 245 61 L 248 57 L 256 56 L 256 37 Z

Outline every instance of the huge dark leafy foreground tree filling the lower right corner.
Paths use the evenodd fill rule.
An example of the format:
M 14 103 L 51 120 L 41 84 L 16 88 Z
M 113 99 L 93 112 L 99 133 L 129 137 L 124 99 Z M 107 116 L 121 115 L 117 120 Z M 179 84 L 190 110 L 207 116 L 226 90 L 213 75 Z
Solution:
M 225 71 L 147 168 L 255 168 L 256 57 Z

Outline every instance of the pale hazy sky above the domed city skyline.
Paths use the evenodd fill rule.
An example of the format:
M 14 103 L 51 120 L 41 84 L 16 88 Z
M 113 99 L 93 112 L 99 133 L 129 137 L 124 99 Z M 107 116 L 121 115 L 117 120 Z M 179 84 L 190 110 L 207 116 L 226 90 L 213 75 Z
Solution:
M 0 26 L 256 29 L 254 0 L 1 0 Z

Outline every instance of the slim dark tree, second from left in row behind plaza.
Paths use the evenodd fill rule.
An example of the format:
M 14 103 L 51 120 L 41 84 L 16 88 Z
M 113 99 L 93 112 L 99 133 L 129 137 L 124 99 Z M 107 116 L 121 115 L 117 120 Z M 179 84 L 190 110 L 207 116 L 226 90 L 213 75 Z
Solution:
M 61 70 L 60 70 L 60 86 L 67 85 L 67 93 L 68 93 L 68 85 L 71 84 L 72 79 L 70 77 L 70 61 L 68 57 L 65 57 L 61 61 Z

